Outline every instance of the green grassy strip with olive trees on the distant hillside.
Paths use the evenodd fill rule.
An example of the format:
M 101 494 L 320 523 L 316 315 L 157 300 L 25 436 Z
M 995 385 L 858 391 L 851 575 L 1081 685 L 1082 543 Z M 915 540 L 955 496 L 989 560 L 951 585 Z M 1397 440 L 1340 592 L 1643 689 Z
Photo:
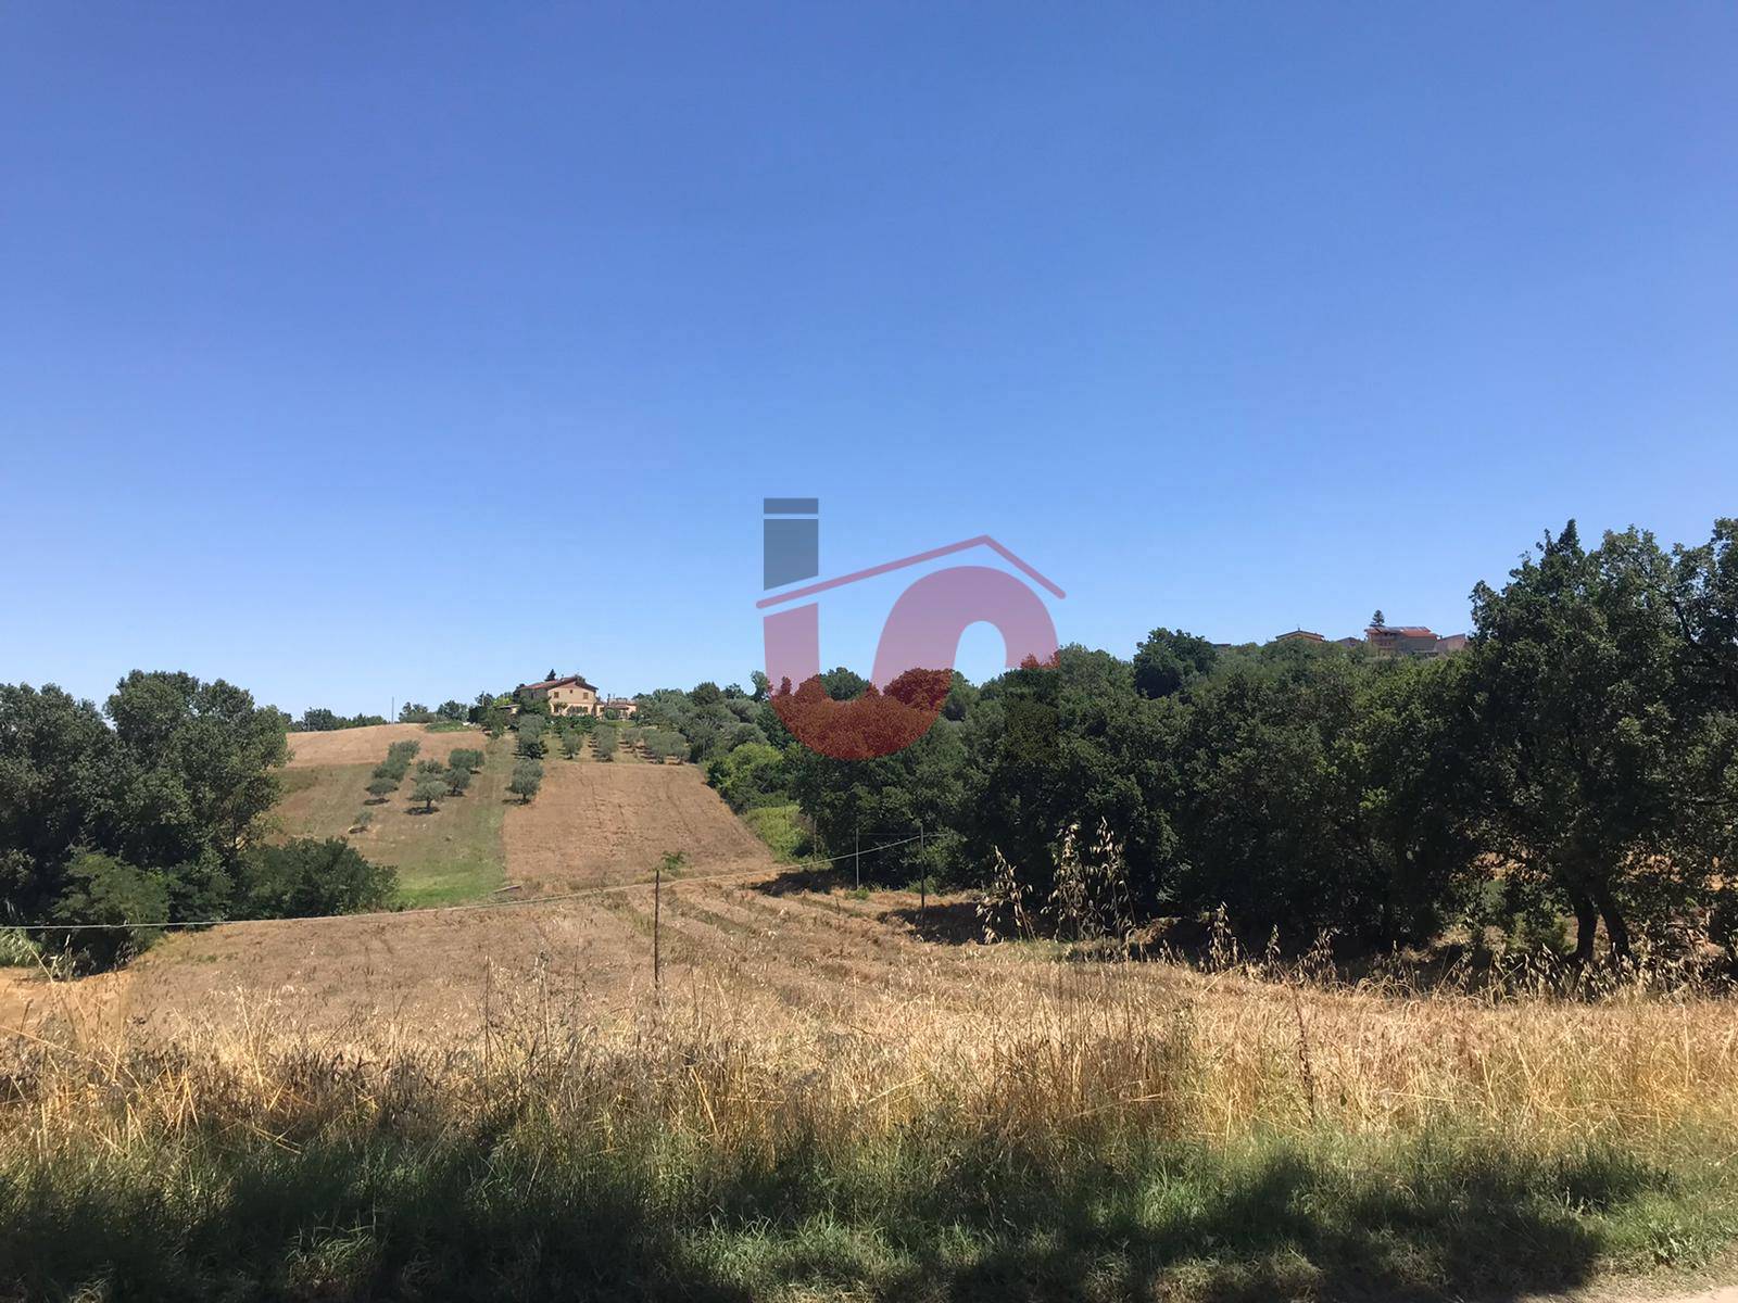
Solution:
M 476 730 L 422 733 L 415 740 L 422 744 L 419 759 L 445 761 L 455 747 L 481 749 L 483 770 L 464 796 L 441 801 L 433 813 L 410 801 L 410 778 L 388 801 L 372 804 L 368 775 L 386 757 L 386 742 L 379 742 L 379 756 L 362 761 L 285 770 L 278 827 L 285 837 L 349 837 L 370 860 L 398 870 L 405 905 L 487 895 L 506 883 L 501 829 L 514 799 L 507 792 L 513 740 L 490 740 Z M 368 829 L 351 832 L 362 811 L 372 815 Z

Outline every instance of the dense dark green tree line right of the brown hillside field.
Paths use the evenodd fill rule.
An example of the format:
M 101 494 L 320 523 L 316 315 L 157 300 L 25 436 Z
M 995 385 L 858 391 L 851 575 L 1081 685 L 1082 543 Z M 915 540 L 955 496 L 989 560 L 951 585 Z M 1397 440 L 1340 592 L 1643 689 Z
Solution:
M 1693 547 L 1634 528 L 1587 547 L 1571 521 L 1472 591 L 1469 646 L 1441 658 L 1154 629 L 1126 658 L 907 683 L 758 674 L 652 693 L 641 719 L 680 730 L 733 808 L 796 803 L 827 850 L 925 830 L 866 876 L 1001 884 L 1051 924 L 1114 902 L 1366 950 L 1456 926 L 1578 961 L 1601 933 L 1620 957 L 1642 936 L 1735 950 L 1733 519 Z M 872 759 L 786 728 L 846 700 L 886 709 L 834 711 L 841 728 L 942 709 Z

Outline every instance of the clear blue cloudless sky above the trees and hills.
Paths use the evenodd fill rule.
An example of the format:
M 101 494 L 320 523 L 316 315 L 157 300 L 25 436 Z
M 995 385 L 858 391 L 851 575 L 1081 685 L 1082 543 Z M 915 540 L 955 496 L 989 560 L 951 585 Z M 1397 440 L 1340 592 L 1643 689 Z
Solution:
M 1738 511 L 1735 64 L 1719 5 L 14 0 L 0 681 L 746 681 L 766 493 L 1124 655 L 1458 631 L 1571 514 Z

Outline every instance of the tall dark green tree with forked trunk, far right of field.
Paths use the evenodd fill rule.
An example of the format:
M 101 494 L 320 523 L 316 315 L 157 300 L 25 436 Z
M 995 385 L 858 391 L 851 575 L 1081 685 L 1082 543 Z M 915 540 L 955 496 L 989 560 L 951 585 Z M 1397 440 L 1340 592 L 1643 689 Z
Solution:
M 1500 591 L 1474 589 L 1489 823 L 1517 877 L 1562 893 L 1580 961 L 1601 921 L 1623 957 L 1637 912 L 1705 886 L 1679 836 L 1700 796 L 1682 759 L 1700 738 L 1695 712 L 1674 711 L 1688 657 L 1682 622 L 1660 601 L 1667 572 L 1651 537 L 1606 535 L 1589 552 L 1569 521 Z

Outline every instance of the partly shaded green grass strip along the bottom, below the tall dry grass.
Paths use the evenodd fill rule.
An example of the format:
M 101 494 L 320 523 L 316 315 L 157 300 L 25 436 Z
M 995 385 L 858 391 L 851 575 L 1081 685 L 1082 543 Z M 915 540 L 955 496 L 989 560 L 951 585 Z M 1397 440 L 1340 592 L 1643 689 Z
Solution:
M 0 1157 L 19 1298 L 1422 1300 L 1700 1267 L 1738 1230 L 1712 1162 L 1408 1141 L 902 1141 L 725 1155 L 502 1105 L 295 1134 L 195 1122 Z

